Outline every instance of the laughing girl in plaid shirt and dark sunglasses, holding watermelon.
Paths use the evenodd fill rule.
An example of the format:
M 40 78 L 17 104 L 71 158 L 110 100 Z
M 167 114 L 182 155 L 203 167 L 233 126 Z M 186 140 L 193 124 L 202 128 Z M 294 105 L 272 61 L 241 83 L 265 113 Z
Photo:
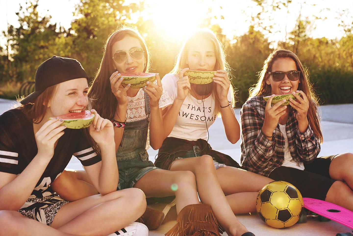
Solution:
M 289 93 L 296 100 L 289 98 L 289 105 L 281 106 L 283 99 L 271 107 L 274 94 Z M 266 103 L 263 97 L 270 94 Z M 241 163 L 249 171 L 294 184 L 303 197 L 352 211 L 353 154 L 318 157 L 323 135 L 317 105 L 297 55 L 288 50 L 271 53 L 240 111 Z

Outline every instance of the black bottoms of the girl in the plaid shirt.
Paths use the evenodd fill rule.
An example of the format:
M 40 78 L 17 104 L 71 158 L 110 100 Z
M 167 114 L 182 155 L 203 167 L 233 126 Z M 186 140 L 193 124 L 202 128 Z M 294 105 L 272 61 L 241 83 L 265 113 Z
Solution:
M 303 197 L 325 200 L 331 185 L 336 181 L 331 179 L 329 168 L 334 156 L 317 157 L 310 164 L 304 164 L 304 171 L 286 166 L 274 169 L 269 178 L 283 180 L 298 188 Z

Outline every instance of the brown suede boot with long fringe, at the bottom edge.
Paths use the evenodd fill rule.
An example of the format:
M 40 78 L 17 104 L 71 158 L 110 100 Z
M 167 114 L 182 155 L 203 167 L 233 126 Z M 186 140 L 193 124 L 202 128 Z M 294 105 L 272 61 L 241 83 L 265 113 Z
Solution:
M 210 205 L 187 205 L 178 214 L 177 224 L 166 236 L 220 236 L 221 226 L 213 214 Z

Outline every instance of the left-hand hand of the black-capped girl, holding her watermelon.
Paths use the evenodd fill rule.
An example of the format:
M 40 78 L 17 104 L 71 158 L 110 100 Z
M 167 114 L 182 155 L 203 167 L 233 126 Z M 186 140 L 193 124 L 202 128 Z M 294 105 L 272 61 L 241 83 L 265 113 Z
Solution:
M 52 159 L 55 143 L 64 135 L 64 129 L 66 128 L 66 125 L 61 125 L 62 122 L 64 122 L 64 120 L 55 117 L 45 122 L 36 132 L 37 155 Z

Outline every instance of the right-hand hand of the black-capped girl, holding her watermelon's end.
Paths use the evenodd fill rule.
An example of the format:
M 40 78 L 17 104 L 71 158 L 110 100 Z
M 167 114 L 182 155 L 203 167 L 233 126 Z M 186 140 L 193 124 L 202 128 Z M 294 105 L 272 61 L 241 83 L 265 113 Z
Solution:
M 113 123 L 108 119 L 102 118 L 94 109 L 91 110 L 91 113 L 95 116 L 89 127 L 90 136 L 100 146 L 115 145 Z

